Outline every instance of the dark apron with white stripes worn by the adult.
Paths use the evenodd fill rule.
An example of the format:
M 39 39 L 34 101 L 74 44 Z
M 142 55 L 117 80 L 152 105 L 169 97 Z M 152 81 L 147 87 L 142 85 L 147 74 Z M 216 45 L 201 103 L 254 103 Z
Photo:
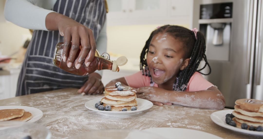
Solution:
M 104 0 L 57 0 L 52 10 L 92 29 L 96 41 L 106 19 Z M 18 78 L 16 96 L 84 85 L 88 76 L 73 75 L 53 65 L 55 45 L 63 41 L 59 31 L 33 32 Z

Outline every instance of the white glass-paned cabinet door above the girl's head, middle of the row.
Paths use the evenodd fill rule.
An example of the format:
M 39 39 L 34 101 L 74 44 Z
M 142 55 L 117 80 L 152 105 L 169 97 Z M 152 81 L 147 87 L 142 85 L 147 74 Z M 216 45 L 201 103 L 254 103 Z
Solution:
M 129 18 L 166 17 L 167 2 L 167 0 L 129 0 Z

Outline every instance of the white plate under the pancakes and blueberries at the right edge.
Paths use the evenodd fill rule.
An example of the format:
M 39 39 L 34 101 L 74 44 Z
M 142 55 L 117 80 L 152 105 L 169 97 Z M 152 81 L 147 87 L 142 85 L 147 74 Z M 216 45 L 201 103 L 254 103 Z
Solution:
M 225 125 L 223 123 L 225 123 L 225 121 L 223 121 L 223 123 L 220 123 L 220 122 L 217 122 L 212 116 L 217 116 L 216 114 L 218 113 L 223 113 L 225 112 L 225 115 L 229 112 L 232 113 L 232 111 L 234 110 L 221 110 L 221 111 L 216 111 L 216 112 L 213 112 L 211 113 L 210 115 L 210 119 L 216 123 L 217 125 L 221 126 L 221 127 L 224 127 L 224 128 L 227 128 L 227 129 L 230 129 L 232 131 L 235 131 L 235 132 L 240 132 L 240 133 L 244 133 L 244 134 L 250 134 L 250 135 L 259 135 L 259 136 L 263 136 L 263 132 L 259 132 L 259 131 L 251 131 L 251 130 L 244 130 L 244 129 L 241 129 L 241 128 L 238 128 L 238 127 L 234 127 L 234 126 L 230 126 L 230 125 Z M 224 117 L 225 119 L 225 117 Z

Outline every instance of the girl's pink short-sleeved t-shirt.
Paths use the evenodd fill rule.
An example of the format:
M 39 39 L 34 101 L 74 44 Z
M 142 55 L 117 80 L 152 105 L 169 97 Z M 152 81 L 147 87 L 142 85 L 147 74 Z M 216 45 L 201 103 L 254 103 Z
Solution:
M 158 87 L 156 83 L 150 83 L 150 77 L 142 75 L 141 71 L 124 77 L 126 82 L 130 87 L 139 88 L 144 86 L 155 86 Z M 195 72 L 188 82 L 186 91 L 201 91 L 207 90 L 209 87 L 214 86 L 212 83 L 208 82 L 199 72 Z M 216 86 L 215 86 L 216 87 Z

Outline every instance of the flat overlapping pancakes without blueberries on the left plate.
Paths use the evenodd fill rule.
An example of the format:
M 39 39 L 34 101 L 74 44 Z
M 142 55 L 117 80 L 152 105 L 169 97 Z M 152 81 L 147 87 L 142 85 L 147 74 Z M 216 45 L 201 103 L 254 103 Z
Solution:
M 23 109 L 4 109 L 0 110 L 0 121 L 28 121 L 32 118 L 30 112 Z

